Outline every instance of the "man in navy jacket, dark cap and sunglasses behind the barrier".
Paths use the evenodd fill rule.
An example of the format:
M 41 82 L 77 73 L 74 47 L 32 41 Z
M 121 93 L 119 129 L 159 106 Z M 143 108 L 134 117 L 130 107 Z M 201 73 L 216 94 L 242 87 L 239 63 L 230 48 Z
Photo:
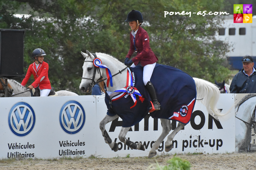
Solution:
M 244 56 L 243 69 L 233 78 L 230 93 L 256 93 L 256 70 L 251 56 Z

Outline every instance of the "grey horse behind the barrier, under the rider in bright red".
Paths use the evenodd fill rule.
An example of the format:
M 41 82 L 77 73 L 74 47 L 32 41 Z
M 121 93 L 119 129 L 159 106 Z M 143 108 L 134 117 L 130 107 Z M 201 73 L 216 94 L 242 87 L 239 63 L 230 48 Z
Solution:
M 31 95 L 31 90 L 27 89 L 26 87 L 23 87 L 19 82 L 15 80 L 8 79 L 8 83 L 11 85 L 13 89 L 13 95 L 18 94 L 11 97 L 31 97 L 33 95 Z M 60 90 L 55 92 L 55 94 L 56 95 L 54 96 L 78 96 L 76 93 L 67 90 Z

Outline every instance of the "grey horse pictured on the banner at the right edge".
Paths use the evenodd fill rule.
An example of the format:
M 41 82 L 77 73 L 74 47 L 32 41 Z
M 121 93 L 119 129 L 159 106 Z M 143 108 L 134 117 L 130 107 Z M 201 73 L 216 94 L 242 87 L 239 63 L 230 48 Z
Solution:
M 236 153 L 249 150 L 252 139 L 251 131 L 256 133 L 256 122 L 253 120 L 253 112 L 256 104 L 256 95 L 246 95 L 235 107 L 236 111 Z M 255 118 L 254 118 L 255 119 Z

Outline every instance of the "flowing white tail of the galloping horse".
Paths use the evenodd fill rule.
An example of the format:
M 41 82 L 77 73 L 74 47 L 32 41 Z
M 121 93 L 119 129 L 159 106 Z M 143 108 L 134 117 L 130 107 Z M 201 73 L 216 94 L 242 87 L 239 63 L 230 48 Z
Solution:
M 196 83 L 197 99 L 203 99 L 201 102 L 205 105 L 208 113 L 217 120 L 218 117 L 224 116 L 216 107 L 220 94 L 218 87 L 206 80 L 198 78 L 193 79 Z

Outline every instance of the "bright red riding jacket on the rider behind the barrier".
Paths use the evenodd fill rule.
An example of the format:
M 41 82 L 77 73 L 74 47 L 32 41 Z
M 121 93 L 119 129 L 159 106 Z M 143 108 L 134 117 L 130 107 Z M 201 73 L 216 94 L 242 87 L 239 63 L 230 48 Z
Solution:
M 35 63 L 30 64 L 26 77 L 23 79 L 21 85 L 25 86 L 31 74 L 33 74 L 35 81 L 31 85 L 34 88 L 39 86 L 41 90 L 51 89 L 51 83 L 48 79 L 48 69 L 49 65 L 46 62 L 39 63 L 38 69 L 35 66 Z

